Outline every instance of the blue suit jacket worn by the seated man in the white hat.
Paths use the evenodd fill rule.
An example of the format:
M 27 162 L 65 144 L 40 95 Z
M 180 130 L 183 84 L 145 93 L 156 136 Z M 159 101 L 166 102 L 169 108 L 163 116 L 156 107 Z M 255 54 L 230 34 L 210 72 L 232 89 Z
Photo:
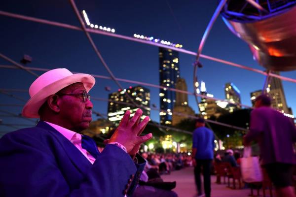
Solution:
M 94 164 L 44 122 L 0 139 L 1 197 L 131 196 L 145 166 L 115 145 Z

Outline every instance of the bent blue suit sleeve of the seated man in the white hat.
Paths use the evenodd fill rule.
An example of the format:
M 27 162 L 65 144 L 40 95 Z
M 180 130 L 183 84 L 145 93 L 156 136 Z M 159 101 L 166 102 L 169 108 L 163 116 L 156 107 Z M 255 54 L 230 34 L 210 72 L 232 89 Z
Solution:
M 71 190 L 50 147 L 24 133 L 0 139 L 1 197 L 124 197 L 142 173 L 138 168 L 122 149 L 107 145 Z

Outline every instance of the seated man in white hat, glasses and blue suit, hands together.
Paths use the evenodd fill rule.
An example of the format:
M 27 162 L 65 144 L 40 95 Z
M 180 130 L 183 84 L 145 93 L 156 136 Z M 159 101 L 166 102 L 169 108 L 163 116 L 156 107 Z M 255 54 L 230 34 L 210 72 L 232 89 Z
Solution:
M 79 134 L 92 120 L 88 92 L 94 84 L 91 75 L 66 68 L 50 70 L 33 82 L 22 114 L 40 122 L 0 139 L 1 197 L 132 195 L 145 166 L 135 155 L 152 137 L 140 136 L 149 118 L 141 122 L 138 109 L 129 120 L 127 111 L 100 153 L 90 137 Z

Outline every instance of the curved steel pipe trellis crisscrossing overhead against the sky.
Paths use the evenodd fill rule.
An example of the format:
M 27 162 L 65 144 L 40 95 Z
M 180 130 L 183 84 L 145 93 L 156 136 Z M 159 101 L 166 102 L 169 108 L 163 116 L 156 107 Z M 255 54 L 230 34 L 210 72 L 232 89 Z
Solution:
M 110 68 L 107 66 L 107 64 L 105 63 L 103 57 L 101 56 L 100 52 L 98 51 L 96 45 L 94 44 L 91 36 L 89 33 L 98 33 L 98 34 L 105 34 L 105 35 L 109 35 L 109 36 L 113 36 L 113 37 L 118 37 L 118 38 L 122 38 L 122 39 L 127 39 L 127 40 L 131 40 L 131 41 L 136 41 L 136 42 L 142 42 L 142 43 L 145 43 L 145 44 L 150 44 L 150 45 L 154 45 L 154 46 L 158 46 L 158 47 L 163 47 L 163 48 L 167 48 L 167 49 L 172 49 L 172 50 L 175 50 L 175 51 L 179 51 L 179 52 L 182 52 L 182 53 L 186 53 L 186 54 L 190 54 L 190 55 L 195 55 L 197 56 L 196 57 L 196 62 L 198 62 L 199 58 L 206 58 L 206 59 L 209 59 L 209 60 L 213 60 L 213 61 L 216 61 L 216 62 L 220 62 L 220 63 L 223 63 L 223 64 L 227 64 L 227 65 L 230 65 L 230 66 L 236 66 L 236 67 L 240 67 L 240 68 L 243 68 L 243 69 L 246 69 L 246 70 L 251 70 L 251 71 L 254 71 L 254 72 L 258 72 L 260 74 L 263 74 L 263 75 L 266 75 L 267 77 L 268 76 L 272 76 L 272 77 L 277 77 L 277 78 L 280 78 L 282 80 L 286 80 L 286 81 L 290 81 L 290 82 L 294 82 L 296 83 L 296 79 L 292 79 L 292 78 L 288 78 L 288 77 L 283 77 L 283 76 L 280 76 L 280 75 L 276 75 L 276 74 L 273 74 L 273 73 L 266 73 L 264 71 L 261 71 L 259 69 L 255 69 L 255 68 L 251 68 L 251 67 L 248 67 L 248 66 L 243 66 L 243 65 L 239 65 L 239 64 L 235 64 L 235 63 L 232 63 L 232 62 L 228 62 L 228 61 L 224 61 L 222 59 L 218 59 L 218 58 L 214 58 L 214 57 L 210 57 L 210 56 L 206 56 L 206 55 L 202 55 L 201 54 L 201 51 L 202 51 L 202 47 L 204 45 L 204 42 L 210 32 L 210 29 L 211 27 L 213 26 L 216 18 L 218 17 L 219 13 L 220 13 L 220 10 L 222 9 L 224 3 L 226 2 L 226 0 L 221 0 L 220 3 L 219 3 L 219 6 L 217 7 L 210 24 L 209 26 L 207 27 L 207 30 L 203 36 L 203 39 L 201 41 L 201 44 L 199 45 L 199 50 L 197 53 L 194 53 L 194 52 L 191 52 L 191 51 L 187 51 L 185 49 L 177 49 L 175 47 L 171 47 L 171 46 L 167 46 L 167 45 L 163 45 L 163 44 L 158 44 L 158 43 L 153 43 L 153 42 L 149 42 L 149 41 L 145 41 L 145 40 L 139 40 L 137 38 L 133 38 L 133 37 L 129 37 L 129 36 L 124 36 L 124 35 L 119 35 L 119 34 L 114 34 L 114 33 L 107 33 L 107 32 L 103 32 L 103 31 L 99 31 L 99 30 L 93 30 L 93 29 L 87 29 L 84 25 L 84 22 L 78 12 L 78 9 L 74 3 L 74 0 L 70 0 L 70 3 L 71 5 L 73 6 L 73 9 L 74 9 L 74 12 L 75 14 L 77 15 L 78 17 L 78 20 L 81 24 L 81 27 L 82 28 L 79 28 L 79 27 L 76 27 L 76 26 L 72 26 L 72 25 L 68 25 L 68 24 L 63 24 L 63 23 L 58 23 L 58 22 L 52 22 L 52 21 L 48 21 L 48 20 L 44 20 L 44 19 L 37 19 L 37 18 L 34 18 L 34 17 L 28 17 L 28 16 L 23 16 L 23 15 L 19 15 L 19 14 L 14 14 L 14 13 L 9 13 L 9 12 L 4 12 L 4 11 L 0 11 L 0 15 L 4 15 L 4 16 L 9 16 L 9 17 L 14 17 L 14 18 L 19 18 L 19 19 L 23 19 L 23 20 L 29 20 L 29 21 L 34 21 L 34 22 L 38 22 L 38 23 L 44 23 L 44 24 L 48 24 L 48 25 L 54 25 L 54 26 L 59 26 L 59 27 L 63 27 L 63 28 L 68 28 L 68 29 L 73 29 L 73 30 L 78 30 L 78 31 L 83 31 L 86 33 L 92 47 L 94 48 L 95 52 L 97 53 L 98 57 L 100 58 L 101 62 L 103 63 L 103 65 L 105 66 L 105 68 L 108 70 L 108 72 L 110 73 L 111 75 L 111 79 L 120 87 L 120 83 L 118 82 L 119 80 L 115 78 L 115 76 L 112 74 Z M 28 69 L 28 67 L 24 67 L 22 65 L 19 65 L 18 63 L 10 60 L 9 58 L 7 59 L 7 57 L 5 57 L 4 55 L 0 54 L 0 57 L 2 57 L 3 59 L 11 62 L 12 64 L 18 66 L 19 68 L 21 69 L 24 69 L 28 72 L 30 72 L 31 74 L 35 75 L 35 76 L 38 76 L 36 73 L 32 72 L 30 69 Z M 194 69 L 196 70 L 196 64 L 194 66 Z M 196 71 L 194 72 L 194 75 L 195 75 Z M 196 77 L 193 77 L 193 80 L 195 81 Z M 127 81 L 127 80 L 126 80 Z M 194 83 L 195 84 L 195 83 Z M 153 84 L 150 84 L 150 86 L 152 86 Z M 156 86 L 156 85 L 153 85 L 153 86 Z M 171 91 L 175 91 L 175 92 L 178 92 L 179 90 L 177 89 L 172 89 L 172 88 L 167 88 L 167 87 L 161 87 L 161 86 L 158 86 L 158 88 L 166 88 L 166 89 L 169 89 Z M 123 89 L 123 88 L 122 88 Z M 14 97 L 15 99 L 17 99 L 15 96 L 13 95 L 10 95 L 8 94 L 7 92 L 5 91 L 0 91 L 0 93 L 3 93 L 3 94 L 6 94 L 8 96 L 11 96 L 11 97 Z M 197 94 L 195 93 L 189 93 L 189 92 L 185 92 L 183 91 L 183 93 L 185 94 L 189 94 L 189 95 L 194 95 L 196 100 L 197 100 Z M 127 93 L 126 93 L 127 94 Z M 199 95 L 200 97 L 204 97 L 204 98 L 208 98 L 206 96 L 203 96 L 203 95 Z M 130 98 L 130 96 L 127 94 L 127 97 Z M 131 98 L 130 98 L 131 99 Z M 208 99 L 216 99 L 216 98 L 208 98 Z M 224 99 L 219 99 L 219 100 L 224 100 Z M 138 105 L 137 103 L 135 103 L 133 101 L 133 99 L 131 99 L 131 101 L 134 103 L 135 106 L 137 107 L 143 107 L 141 105 Z M 198 103 L 198 100 L 197 100 L 197 103 Z M 243 104 L 241 104 L 243 106 Z M 198 106 L 198 105 L 197 105 Z M 249 106 L 248 106 L 249 107 Z M 199 108 L 199 106 L 198 106 Z M 216 122 L 216 121 L 215 121 Z M 244 128 L 241 128 L 243 130 L 245 130 Z

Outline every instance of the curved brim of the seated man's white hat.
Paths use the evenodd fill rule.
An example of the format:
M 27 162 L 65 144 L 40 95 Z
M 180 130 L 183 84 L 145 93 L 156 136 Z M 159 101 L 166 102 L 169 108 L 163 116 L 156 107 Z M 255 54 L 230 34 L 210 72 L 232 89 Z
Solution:
M 63 88 L 74 84 L 74 83 L 83 83 L 83 86 L 87 92 L 89 92 L 92 87 L 95 85 L 95 78 L 89 74 L 74 74 L 63 79 L 60 79 L 39 91 L 34 95 L 28 102 L 25 104 L 22 115 L 27 118 L 39 118 L 39 108 L 46 101 L 46 99 Z

